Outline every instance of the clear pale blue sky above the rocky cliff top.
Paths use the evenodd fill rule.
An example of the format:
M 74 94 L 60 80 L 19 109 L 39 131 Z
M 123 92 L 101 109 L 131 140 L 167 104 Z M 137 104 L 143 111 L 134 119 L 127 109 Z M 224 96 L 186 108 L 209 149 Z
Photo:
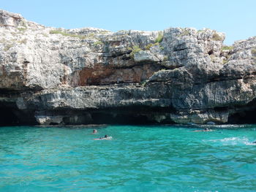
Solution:
M 227 45 L 256 35 L 256 0 L 0 0 L 0 8 L 53 27 L 212 28 L 225 32 Z

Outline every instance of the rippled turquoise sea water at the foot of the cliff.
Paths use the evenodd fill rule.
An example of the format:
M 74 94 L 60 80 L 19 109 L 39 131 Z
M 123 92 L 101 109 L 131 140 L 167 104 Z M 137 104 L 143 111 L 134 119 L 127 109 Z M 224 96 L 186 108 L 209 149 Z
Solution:
M 256 191 L 256 126 L 97 129 L 1 127 L 0 191 Z

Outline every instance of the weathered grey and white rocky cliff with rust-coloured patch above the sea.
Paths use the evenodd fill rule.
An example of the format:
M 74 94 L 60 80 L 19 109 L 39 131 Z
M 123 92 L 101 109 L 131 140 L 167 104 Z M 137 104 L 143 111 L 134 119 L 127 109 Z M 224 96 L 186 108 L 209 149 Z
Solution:
M 50 28 L 0 11 L 0 124 L 256 122 L 256 37 Z

